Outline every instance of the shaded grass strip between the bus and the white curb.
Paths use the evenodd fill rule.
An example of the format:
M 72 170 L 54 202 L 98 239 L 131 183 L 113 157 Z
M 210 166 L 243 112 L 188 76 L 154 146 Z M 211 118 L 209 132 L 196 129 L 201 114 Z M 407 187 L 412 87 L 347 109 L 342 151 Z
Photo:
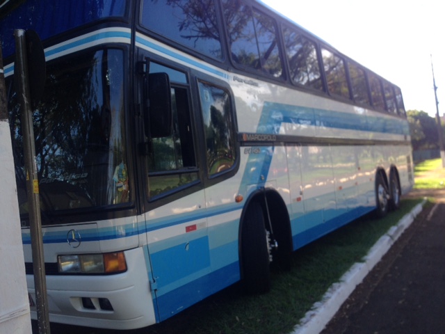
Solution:
M 238 285 L 211 296 L 149 333 L 248 334 L 290 333 L 332 283 L 397 223 L 419 200 L 403 200 L 401 209 L 386 218 L 366 216 L 301 248 L 292 257 L 292 269 L 273 273 L 268 294 L 244 296 Z

